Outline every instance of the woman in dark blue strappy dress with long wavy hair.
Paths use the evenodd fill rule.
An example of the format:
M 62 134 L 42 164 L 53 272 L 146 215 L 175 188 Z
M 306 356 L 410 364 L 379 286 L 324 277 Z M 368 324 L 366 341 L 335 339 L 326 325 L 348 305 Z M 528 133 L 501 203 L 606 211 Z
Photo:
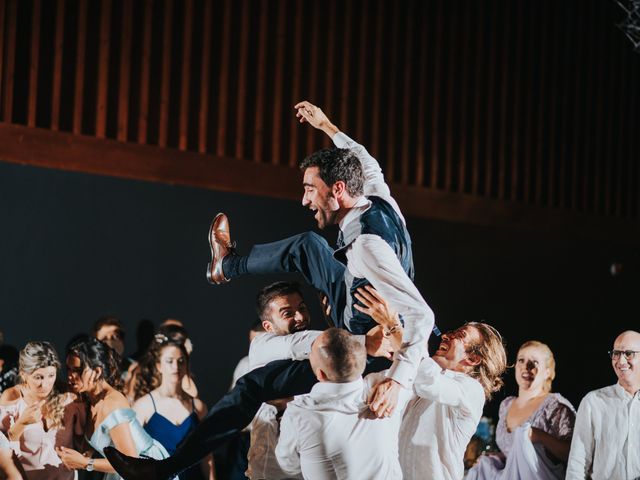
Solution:
M 147 433 L 172 454 L 206 416 L 207 407 L 199 398 L 189 396 L 182 387 L 183 378 L 189 373 L 185 338 L 166 333 L 158 333 L 154 337 L 145 358 L 141 359 L 141 365 L 148 368 L 140 369 L 145 378 L 141 378 L 143 381 L 139 385 L 147 387 L 136 392 L 139 398 L 133 409 Z M 212 456 L 182 472 L 180 479 L 215 480 Z

